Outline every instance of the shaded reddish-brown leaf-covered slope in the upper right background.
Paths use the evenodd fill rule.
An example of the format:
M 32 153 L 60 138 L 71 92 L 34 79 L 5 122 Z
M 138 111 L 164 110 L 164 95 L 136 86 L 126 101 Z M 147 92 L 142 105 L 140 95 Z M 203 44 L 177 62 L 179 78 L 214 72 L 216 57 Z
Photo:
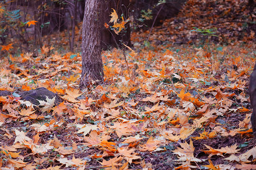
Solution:
M 193 27 L 209 30 L 217 28 L 217 36 L 212 40 L 221 44 L 236 44 L 255 41 L 254 25 L 251 22 L 250 6 L 247 1 L 187 1 L 175 18 L 167 19 L 162 27 L 153 28 L 150 36 L 151 44 L 183 44 L 202 45 L 203 37 L 197 32 L 190 32 Z M 251 26 L 250 26 L 251 24 Z M 137 32 L 135 42 L 140 39 L 142 32 Z

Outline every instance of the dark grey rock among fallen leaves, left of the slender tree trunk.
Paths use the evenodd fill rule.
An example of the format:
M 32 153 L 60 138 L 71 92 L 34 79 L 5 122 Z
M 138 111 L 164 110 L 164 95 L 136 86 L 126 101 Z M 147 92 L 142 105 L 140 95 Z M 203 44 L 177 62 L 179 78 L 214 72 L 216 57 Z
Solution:
M 56 105 L 59 105 L 63 101 L 63 99 L 61 99 L 57 94 L 47 90 L 47 88 L 44 87 L 36 88 L 35 90 L 25 91 L 20 94 L 21 100 L 30 101 L 34 105 L 40 104 L 38 100 L 46 101 L 46 96 L 48 96 L 49 99 L 55 97 Z

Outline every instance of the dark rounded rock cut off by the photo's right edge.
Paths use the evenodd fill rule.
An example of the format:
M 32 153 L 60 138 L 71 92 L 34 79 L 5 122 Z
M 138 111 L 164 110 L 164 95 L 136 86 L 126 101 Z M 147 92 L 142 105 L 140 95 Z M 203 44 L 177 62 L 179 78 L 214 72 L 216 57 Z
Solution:
M 256 63 L 253 73 L 251 73 L 250 76 L 249 94 L 251 106 L 253 107 L 253 113 L 251 113 L 251 125 L 253 128 L 253 133 L 256 135 Z

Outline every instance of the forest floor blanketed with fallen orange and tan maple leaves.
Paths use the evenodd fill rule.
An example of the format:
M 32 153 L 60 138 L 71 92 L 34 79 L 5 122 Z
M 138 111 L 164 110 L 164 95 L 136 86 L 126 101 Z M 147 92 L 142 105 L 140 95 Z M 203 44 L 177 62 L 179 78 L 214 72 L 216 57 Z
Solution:
M 245 3 L 214 2 L 227 3 L 223 15 Z M 0 90 L 11 95 L 0 96 L 0 167 L 256 169 L 248 94 L 254 34 L 229 34 L 232 27 L 241 35 L 240 23 L 222 23 L 225 31 L 209 41 L 190 32 L 212 23 L 195 16 L 214 14 L 216 3 L 188 1 L 148 42 L 149 30 L 133 32 L 134 50 L 102 52 L 105 83 L 81 91 L 81 53 L 46 46 L 36 56 L 6 53 Z M 245 8 L 240 15 L 246 14 Z M 20 99 L 20 91 L 39 87 L 63 102 L 47 99 L 37 107 Z

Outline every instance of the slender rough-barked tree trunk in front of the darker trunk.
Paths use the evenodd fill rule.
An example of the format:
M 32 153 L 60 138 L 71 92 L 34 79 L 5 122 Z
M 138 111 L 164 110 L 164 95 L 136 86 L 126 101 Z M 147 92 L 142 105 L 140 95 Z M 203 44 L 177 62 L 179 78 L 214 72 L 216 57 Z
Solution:
M 82 23 L 82 75 L 80 88 L 92 80 L 103 82 L 101 58 L 101 15 L 102 0 L 86 0 Z

